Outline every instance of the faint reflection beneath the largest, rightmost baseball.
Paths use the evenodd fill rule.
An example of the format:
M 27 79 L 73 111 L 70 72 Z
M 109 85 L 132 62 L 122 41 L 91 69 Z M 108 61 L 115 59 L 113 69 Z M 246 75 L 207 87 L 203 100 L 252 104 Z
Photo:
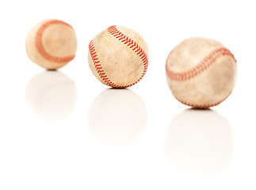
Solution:
M 207 176 L 221 173 L 233 156 L 231 125 L 211 109 L 188 109 L 170 122 L 166 158 L 181 173 Z

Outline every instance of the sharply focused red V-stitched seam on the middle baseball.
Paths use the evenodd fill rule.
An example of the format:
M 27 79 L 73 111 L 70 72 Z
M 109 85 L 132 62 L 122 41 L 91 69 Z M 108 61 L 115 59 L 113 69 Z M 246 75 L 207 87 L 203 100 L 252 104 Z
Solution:
M 116 25 L 110 26 L 107 30 L 112 36 L 117 38 L 117 40 L 120 40 L 122 43 L 124 43 L 129 48 L 131 48 L 132 51 L 136 52 L 137 55 L 139 55 L 139 58 L 141 59 L 141 61 L 143 63 L 143 74 L 139 77 L 139 79 L 136 82 L 132 83 L 131 85 L 118 86 L 118 85 L 114 84 L 113 82 L 111 82 L 111 80 L 108 78 L 108 76 L 105 74 L 105 71 L 101 67 L 100 60 L 97 57 L 97 52 L 94 47 L 94 42 L 92 40 L 89 44 L 89 51 L 90 51 L 90 56 L 94 62 L 94 67 L 97 70 L 97 74 L 100 76 L 102 81 L 105 82 L 105 84 L 107 84 L 108 86 L 111 86 L 113 88 L 127 88 L 129 86 L 133 86 L 136 83 L 138 83 L 147 72 L 147 66 L 148 66 L 147 55 L 146 55 L 145 51 L 143 51 L 143 48 L 140 47 L 139 44 L 137 44 L 135 40 L 130 39 L 128 36 L 125 36 L 124 33 L 118 31 L 116 28 Z

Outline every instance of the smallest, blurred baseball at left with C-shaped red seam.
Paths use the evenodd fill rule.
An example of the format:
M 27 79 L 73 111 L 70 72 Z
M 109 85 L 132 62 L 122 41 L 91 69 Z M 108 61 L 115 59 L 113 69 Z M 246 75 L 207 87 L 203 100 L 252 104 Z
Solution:
M 55 19 L 40 21 L 28 33 L 26 51 L 33 63 L 47 70 L 63 67 L 75 58 L 75 30 Z

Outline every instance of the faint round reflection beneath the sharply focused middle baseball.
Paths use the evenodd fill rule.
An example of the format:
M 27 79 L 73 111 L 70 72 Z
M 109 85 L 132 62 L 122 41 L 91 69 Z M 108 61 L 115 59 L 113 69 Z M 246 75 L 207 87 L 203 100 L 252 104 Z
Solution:
M 146 123 L 146 107 L 131 89 L 105 89 L 90 105 L 90 131 L 107 146 L 136 142 Z

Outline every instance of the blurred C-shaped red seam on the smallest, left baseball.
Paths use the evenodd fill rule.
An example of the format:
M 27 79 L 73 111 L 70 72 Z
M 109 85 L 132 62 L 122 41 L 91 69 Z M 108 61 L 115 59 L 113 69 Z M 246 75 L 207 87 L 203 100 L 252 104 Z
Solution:
M 44 25 L 42 25 L 36 32 L 36 39 L 35 39 L 36 48 L 37 48 L 37 51 L 39 51 L 40 55 L 42 55 L 44 57 L 44 59 L 47 59 L 48 61 L 52 61 L 55 63 L 67 63 L 67 62 L 70 62 L 72 59 L 74 59 L 75 55 L 63 57 L 63 58 L 55 57 L 55 56 L 48 54 L 48 52 L 44 50 L 44 46 L 42 44 L 42 36 L 43 36 L 44 30 L 46 28 L 48 28 L 48 26 L 50 26 L 50 25 L 58 25 L 58 24 L 59 25 L 67 25 L 67 26 L 71 27 L 71 25 L 68 25 L 67 23 L 65 23 L 63 21 L 59 21 L 59 20 L 52 20 L 52 21 L 48 21 L 48 22 L 44 23 Z

